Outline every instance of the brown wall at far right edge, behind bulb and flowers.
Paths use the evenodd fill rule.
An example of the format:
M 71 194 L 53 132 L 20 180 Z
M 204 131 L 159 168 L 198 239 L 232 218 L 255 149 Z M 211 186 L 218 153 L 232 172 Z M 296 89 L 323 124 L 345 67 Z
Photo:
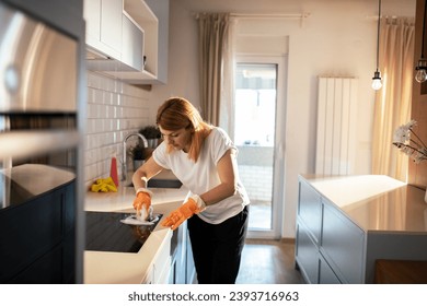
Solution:
M 424 3 L 425 3 L 424 0 L 417 0 L 414 67 L 416 66 L 416 62 L 420 58 L 420 52 L 422 52 Z M 412 118 L 418 122 L 417 134 L 425 143 L 427 143 L 427 87 L 425 86 L 427 86 L 426 83 L 423 84 L 423 94 L 422 94 L 422 85 L 417 82 L 414 82 Z M 426 188 L 427 162 L 423 162 L 418 165 L 415 163 L 409 163 L 408 183 L 422 188 Z

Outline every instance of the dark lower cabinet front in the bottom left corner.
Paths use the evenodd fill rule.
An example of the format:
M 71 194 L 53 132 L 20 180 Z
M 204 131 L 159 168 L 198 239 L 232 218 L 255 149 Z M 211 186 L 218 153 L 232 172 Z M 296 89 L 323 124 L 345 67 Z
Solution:
M 74 283 L 74 181 L 0 210 L 1 283 Z

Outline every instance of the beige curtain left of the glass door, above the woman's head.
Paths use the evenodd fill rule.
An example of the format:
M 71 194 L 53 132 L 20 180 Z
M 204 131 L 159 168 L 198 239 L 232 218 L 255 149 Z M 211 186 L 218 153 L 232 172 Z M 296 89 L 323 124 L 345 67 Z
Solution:
M 204 119 L 215 126 L 220 121 L 224 61 L 229 49 L 229 13 L 198 14 L 200 106 Z

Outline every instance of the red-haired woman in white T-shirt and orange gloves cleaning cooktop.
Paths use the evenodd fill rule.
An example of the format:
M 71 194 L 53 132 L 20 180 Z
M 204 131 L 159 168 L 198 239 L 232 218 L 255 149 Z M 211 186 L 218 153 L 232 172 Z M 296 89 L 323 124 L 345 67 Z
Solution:
M 171 169 L 189 189 L 184 203 L 162 222 L 175 229 L 187 221 L 198 283 L 234 283 L 247 228 L 249 198 L 236 166 L 236 148 L 227 133 L 205 122 L 185 98 L 160 106 L 157 125 L 164 141 L 136 170 L 139 211 L 151 203 L 147 181 Z

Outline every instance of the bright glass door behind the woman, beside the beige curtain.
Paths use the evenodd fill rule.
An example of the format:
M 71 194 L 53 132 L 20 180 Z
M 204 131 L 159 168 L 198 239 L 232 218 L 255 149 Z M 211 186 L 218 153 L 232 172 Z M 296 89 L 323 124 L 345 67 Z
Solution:
M 282 207 L 282 58 L 240 58 L 234 79 L 234 142 L 251 199 L 249 237 L 278 238 Z M 280 110 L 280 113 L 278 113 Z

